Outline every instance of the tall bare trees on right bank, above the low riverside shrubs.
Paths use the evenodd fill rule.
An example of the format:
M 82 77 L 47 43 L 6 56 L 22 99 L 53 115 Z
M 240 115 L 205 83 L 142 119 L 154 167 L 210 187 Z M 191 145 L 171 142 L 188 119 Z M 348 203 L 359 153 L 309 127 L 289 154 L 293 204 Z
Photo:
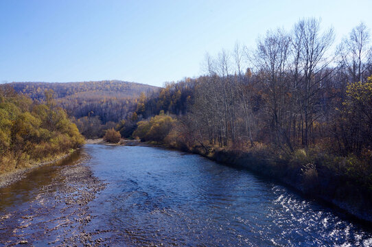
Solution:
M 203 145 L 321 145 L 341 155 L 371 152 L 372 48 L 360 23 L 334 48 L 334 30 L 303 19 L 270 30 L 253 49 L 207 54 L 206 74 L 166 84 L 137 104 L 139 119 L 165 113 Z

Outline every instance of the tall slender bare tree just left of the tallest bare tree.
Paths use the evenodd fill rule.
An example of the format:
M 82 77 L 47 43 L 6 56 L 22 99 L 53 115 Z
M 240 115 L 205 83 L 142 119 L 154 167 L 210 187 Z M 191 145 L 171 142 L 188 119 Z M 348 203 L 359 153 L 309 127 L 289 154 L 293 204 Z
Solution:
M 272 141 L 286 143 L 292 150 L 285 119 L 288 115 L 288 53 L 290 36 L 283 30 L 268 31 L 257 40 L 253 64 L 260 72 L 266 92 L 266 115 Z

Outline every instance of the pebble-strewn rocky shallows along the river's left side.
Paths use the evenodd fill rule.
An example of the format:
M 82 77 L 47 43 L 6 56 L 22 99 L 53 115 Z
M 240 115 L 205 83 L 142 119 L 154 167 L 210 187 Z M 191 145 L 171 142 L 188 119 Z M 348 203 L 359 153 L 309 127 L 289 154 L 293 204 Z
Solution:
M 0 245 L 107 246 L 104 229 L 86 231 L 93 218 L 89 202 L 105 187 L 82 157 L 56 169 L 56 176 L 37 188 L 33 199 L 14 210 L 0 210 Z M 1 208 L 0 208 L 1 209 Z

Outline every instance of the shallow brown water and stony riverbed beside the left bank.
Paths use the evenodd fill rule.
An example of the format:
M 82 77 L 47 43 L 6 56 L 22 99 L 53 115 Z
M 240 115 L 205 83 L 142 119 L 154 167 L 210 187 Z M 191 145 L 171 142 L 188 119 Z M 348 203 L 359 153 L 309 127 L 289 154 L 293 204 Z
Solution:
M 104 231 L 84 231 L 94 217 L 88 204 L 105 188 L 86 166 L 89 159 L 74 152 L 0 189 L 0 245 L 100 246 Z M 5 210 L 9 205 L 16 208 Z

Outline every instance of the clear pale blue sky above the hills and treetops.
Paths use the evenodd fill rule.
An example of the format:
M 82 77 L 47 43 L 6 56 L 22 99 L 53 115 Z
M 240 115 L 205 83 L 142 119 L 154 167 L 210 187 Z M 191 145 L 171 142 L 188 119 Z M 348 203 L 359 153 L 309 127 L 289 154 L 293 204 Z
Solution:
M 333 25 L 339 42 L 372 1 L 0 0 L 0 82 L 126 80 L 163 85 L 202 73 L 205 53 L 253 46 L 303 17 Z

